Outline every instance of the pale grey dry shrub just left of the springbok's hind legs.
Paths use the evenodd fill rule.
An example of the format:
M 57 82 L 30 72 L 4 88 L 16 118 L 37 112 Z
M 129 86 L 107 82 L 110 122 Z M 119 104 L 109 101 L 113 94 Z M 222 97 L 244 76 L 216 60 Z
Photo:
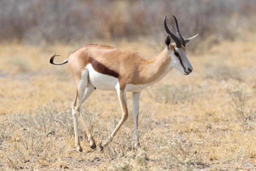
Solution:
M 87 113 L 83 113 L 86 115 Z M 63 108 L 60 112 L 53 101 L 44 106 L 35 107 L 31 112 L 13 113 L 10 119 L 22 129 L 35 128 L 52 135 L 65 134 L 72 136 L 74 123 L 71 110 Z M 81 127 L 79 127 L 81 130 Z

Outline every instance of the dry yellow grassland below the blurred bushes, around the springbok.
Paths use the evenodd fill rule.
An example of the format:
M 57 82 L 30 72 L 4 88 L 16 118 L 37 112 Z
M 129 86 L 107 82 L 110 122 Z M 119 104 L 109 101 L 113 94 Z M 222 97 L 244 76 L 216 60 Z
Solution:
M 104 44 L 138 51 L 148 59 L 160 53 L 141 42 Z M 173 70 L 143 91 L 138 151 L 133 149 L 128 93 L 129 119 L 102 153 L 90 149 L 81 125 L 84 151 L 71 152 L 75 142 L 70 105 L 76 85 L 67 65 L 49 64 L 55 52 L 61 55 L 56 62 L 61 62 L 79 46 L 0 45 L 0 170 L 255 168 L 255 42 L 223 42 L 201 55 L 188 52 L 192 74 Z M 96 90 L 88 101 L 83 114 L 99 145 L 113 131 L 121 109 L 114 91 Z

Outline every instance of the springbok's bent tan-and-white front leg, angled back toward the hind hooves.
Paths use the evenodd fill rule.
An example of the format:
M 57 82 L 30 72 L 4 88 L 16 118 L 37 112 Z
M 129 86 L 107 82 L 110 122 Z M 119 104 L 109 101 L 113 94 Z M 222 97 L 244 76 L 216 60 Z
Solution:
M 103 143 L 102 145 L 100 145 L 100 147 L 105 148 L 113 139 L 113 137 L 116 135 L 117 131 L 120 129 L 120 127 L 122 126 L 122 124 L 127 120 L 128 118 L 128 110 L 127 110 L 127 102 L 126 102 L 126 92 L 122 91 L 122 90 L 117 90 L 117 95 L 119 98 L 119 102 L 121 104 L 121 108 L 122 108 L 122 118 L 119 121 L 118 125 L 116 126 L 115 130 L 113 131 L 113 133 L 111 133 L 111 135 L 108 137 L 108 139 L 106 140 L 105 143 Z

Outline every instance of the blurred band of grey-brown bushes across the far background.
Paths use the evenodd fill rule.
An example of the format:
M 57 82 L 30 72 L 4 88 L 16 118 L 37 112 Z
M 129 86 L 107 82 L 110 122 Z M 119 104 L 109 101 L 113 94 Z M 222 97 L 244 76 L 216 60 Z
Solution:
M 29 45 L 84 40 L 163 42 L 163 18 L 174 30 L 175 15 L 183 37 L 197 33 L 193 46 L 211 37 L 243 38 L 256 29 L 255 0 L 0 0 L 0 41 Z

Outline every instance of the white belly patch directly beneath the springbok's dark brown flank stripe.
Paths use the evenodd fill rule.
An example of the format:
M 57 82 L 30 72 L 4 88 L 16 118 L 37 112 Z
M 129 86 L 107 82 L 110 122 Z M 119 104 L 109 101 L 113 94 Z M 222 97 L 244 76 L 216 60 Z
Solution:
M 86 66 L 88 69 L 88 80 L 99 90 L 116 90 L 118 78 L 96 72 L 91 64 Z

